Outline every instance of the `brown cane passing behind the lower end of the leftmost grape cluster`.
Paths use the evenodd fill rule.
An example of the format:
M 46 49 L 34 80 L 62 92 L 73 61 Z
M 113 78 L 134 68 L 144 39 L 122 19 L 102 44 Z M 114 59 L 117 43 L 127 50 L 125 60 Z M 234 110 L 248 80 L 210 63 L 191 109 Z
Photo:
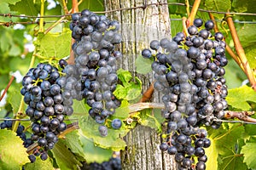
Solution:
M 73 131 L 76 130 L 76 129 L 79 129 L 79 123 L 78 123 L 78 122 L 74 122 L 74 123 L 72 123 L 72 124 L 68 124 L 68 125 L 67 125 L 67 129 L 66 129 L 65 131 L 63 131 L 62 133 L 60 133 L 60 134 L 58 135 L 58 138 L 63 139 L 63 138 L 65 138 L 65 135 L 66 135 L 67 133 L 71 133 L 71 132 L 73 132 Z M 31 145 L 27 148 L 26 153 L 32 154 L 32 153 L 33 153 L 33 150 L 36 149 L 36 148 L 38 148 L 38 149 L 40 148 L 40 146 L 38 146 L 38 142 L 35 142 L 34 144 L 31 144 Z

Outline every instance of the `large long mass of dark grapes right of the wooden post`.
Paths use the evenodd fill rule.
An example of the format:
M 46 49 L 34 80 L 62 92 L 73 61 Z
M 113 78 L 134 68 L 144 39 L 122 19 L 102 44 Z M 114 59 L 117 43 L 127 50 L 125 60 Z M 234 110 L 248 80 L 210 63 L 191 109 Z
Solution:
M 218 128 L 227 108 L 224 79 L 225 42 L 223 34 L 211 30 L 212 20 L 196 19 L 189 35 L 177 33 L 172 41 L 163 38 L 143 49 L 144 58 L 154 58 L 154 88 L 164 95 L 166 134 L 160 150 L 175 155 L 178 169 L 206 169 L 204 148 L 211 144 L 201 125 Z M 195 156 L 197 161 L 194 160 Z M 195 166 L 194 166 L 195 165 Z

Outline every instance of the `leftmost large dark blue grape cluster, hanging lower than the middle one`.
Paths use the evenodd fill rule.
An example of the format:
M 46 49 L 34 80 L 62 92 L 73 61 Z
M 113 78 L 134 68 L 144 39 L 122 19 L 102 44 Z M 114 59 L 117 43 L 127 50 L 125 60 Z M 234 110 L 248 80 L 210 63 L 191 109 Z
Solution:
M 67 62 L 61 60 L 61 64 L 63 67 Z M 67 128 L 64 116 L 72 114 L 72 104 L 67 105 L 68 98 L 61 91 L 62 79 L 61 72 L 55 66 L 43 63 L 30 69 L 23 77 L 20 93 L 28 105 L 26 116 L 32 121 L 31 139 L 41 147 L 29 156 L 31 161 L 39 155 L 46 160 L 47 150 L 53 149 L 58 141 L 57 135 Z

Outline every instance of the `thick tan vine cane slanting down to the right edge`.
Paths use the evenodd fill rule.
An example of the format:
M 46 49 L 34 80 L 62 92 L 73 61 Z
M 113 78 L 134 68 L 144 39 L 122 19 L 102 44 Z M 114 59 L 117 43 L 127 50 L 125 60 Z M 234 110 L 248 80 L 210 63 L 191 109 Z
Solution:
M 253 90 L 256 91 L 255 77 L 253 75 L 252 69 L 250 68 L 250 65 L 248 64 L 247 57 L 246 57 L 245 52 L 241 46 L 239 37 L 237 36 L 236 27 L 234 25 L 233 19 L 230 16 L 230 14 L 225 14 L 225 17 L 227 18 L 228 26 L 230 27 L 231 36 L 232 36 L 232 39 L 235 44 L 236 53 L 238 54 L 238 57 L 241 60 L 241 65 L 244 68 L 244 71 L 247 75 L 247 78 L 248 78 Z

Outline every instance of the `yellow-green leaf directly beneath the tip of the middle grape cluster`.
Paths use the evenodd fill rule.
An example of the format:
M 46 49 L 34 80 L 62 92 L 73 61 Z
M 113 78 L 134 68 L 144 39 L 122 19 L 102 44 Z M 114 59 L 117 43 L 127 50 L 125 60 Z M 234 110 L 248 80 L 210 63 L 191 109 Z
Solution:
M 108 128 L 108 136 L 102 137 L 99 133 L 99 124 L 95 122 L 90 116 L 79 116 L 79 127 L 86 138 L 93 139 L 94 143 L 103 149 L 124 150 L 125 141 L 121 139 L 129 132 L 125 129 L 124 123 L 119 129 Z

